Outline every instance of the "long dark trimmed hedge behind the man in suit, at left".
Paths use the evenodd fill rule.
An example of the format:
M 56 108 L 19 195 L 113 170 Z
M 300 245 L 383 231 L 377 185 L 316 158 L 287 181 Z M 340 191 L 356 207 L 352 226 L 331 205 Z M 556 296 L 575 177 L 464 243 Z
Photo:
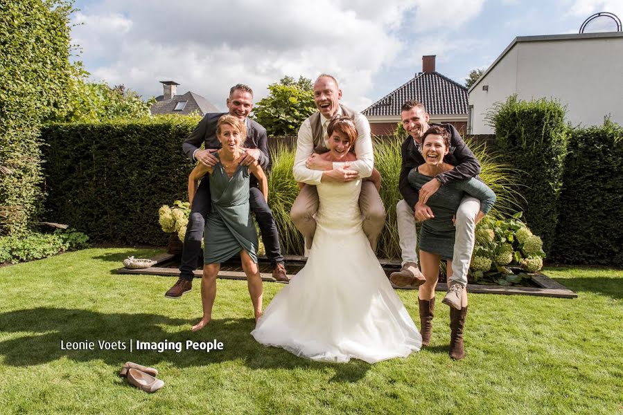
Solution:
M 188 196 L 182 142 L 198 118 L 49 124 L 42 129 L 46 218 L 91 241 L 166 244 L 158 209 Z

